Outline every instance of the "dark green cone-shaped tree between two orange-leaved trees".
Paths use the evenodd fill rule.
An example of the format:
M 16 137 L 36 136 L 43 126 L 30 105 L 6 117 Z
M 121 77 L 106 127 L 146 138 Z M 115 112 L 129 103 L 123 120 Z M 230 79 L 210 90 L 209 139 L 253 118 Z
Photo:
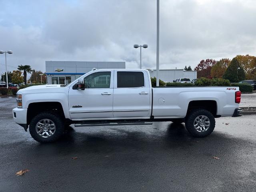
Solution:
M 236 58 L 233 58 L 230 62 L 230 65 L 223 75 L 223 78 L 230 80 L 230 82 L 239 82 L 245 80 L 244 69 L 239 65 L 239 62 Z

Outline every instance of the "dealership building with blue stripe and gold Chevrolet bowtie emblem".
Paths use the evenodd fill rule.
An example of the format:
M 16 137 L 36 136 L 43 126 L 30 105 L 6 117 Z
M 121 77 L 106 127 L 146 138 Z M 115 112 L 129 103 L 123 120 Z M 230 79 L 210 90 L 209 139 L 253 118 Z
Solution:
M 125 69 L 125 62 L 46 61 L 47 84 L 69 84 L 94 69 Z

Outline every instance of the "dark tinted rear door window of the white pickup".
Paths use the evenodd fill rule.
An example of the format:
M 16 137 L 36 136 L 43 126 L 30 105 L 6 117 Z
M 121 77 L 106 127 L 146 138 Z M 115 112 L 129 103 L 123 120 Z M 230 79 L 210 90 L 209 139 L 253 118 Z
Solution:
M 118 71 L 117 88 L 144 87 L 143 72 Z

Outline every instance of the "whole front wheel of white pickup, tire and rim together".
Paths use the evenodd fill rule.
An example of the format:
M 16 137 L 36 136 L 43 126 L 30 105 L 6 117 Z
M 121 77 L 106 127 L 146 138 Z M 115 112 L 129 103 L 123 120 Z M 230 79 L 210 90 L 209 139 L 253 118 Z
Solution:
M 29 132 L 34 140 L 40 143 L 51 143 L 64 131 L 64 122 L 57 114 L 42 112 L 36 115 L 30 122 Z

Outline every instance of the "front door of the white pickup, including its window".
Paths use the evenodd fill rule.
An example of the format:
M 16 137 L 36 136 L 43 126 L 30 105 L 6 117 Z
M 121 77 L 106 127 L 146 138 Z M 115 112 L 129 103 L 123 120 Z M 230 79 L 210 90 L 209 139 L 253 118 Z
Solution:
M 68 100 L 72 119 L 113 118 L 114 70 L 90 72 L 85 89 L 70 87 Z

